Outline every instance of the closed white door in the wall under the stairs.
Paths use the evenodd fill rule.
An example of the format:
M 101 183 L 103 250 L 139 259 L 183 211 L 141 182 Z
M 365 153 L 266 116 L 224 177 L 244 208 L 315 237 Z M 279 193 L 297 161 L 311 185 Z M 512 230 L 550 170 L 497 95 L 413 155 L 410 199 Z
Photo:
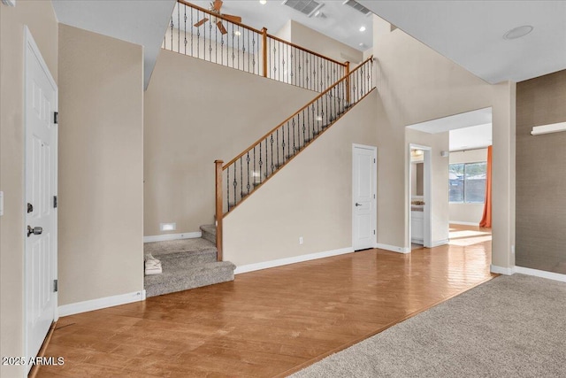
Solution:
M 377 148 L 353 146 L 352 233 L 355 251 L 376 244 Z

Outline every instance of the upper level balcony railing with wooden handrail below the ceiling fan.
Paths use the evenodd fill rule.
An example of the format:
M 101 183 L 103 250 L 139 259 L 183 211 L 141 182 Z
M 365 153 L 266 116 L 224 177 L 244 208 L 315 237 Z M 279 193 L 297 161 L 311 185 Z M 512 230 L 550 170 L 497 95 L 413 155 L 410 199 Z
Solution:
M 206 19 L 206 21 L 203 21 Z M 178 0 L 162 46 L 194 58 L 322 92 L 348 74 L 349 64 Z

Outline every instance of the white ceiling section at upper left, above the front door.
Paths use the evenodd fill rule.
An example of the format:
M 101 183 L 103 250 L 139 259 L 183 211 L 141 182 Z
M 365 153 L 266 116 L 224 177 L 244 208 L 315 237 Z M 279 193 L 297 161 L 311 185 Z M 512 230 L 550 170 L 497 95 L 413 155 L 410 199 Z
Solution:
M 59 22 L 143 46 L 144 82 L 157 61 L 175 0 L 53 0 Z

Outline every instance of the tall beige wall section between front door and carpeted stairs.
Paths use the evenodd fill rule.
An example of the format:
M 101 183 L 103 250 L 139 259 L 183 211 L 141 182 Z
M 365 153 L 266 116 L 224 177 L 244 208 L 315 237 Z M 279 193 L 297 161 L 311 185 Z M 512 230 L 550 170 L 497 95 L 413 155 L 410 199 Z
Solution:
M 59 305 L 143 289 L 142 47 L 59 27 Z

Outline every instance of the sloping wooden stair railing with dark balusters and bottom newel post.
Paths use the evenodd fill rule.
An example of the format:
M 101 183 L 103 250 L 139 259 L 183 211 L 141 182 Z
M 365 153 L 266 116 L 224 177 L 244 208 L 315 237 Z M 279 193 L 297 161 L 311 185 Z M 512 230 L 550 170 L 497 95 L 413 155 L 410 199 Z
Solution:
M 223 251 L 222 220 L 226 213 L 241 204 L 373 89 L 373 57 L 370 57 L 226 165 L 222 160 L 215 161 L 219 260 Z

